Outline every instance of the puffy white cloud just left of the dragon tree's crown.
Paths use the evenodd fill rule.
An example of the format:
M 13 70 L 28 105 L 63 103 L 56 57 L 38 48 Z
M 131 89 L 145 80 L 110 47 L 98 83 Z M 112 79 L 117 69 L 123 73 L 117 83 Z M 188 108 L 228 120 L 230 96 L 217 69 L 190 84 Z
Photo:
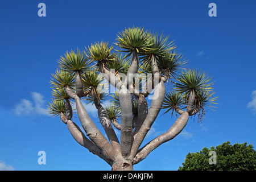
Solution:
M 44 108 L 46 101 L 43 100 L 42 94 L 38 92 L 31 93 L 32 101 L 23 99 L 18 104 L 15 105 L 14 112 L 16 115 L 29 115 L 29 114 L 39 114 L 39 115 L 49 115 L 47 113 L 47 108 Z

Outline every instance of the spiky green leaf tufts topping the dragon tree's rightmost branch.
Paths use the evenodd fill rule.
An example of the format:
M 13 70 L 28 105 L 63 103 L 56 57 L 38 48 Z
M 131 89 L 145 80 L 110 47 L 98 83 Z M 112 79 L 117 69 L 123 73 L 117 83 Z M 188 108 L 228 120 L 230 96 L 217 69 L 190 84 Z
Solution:
M 193 104 L 193 112 L 199 113 L 199 121 L 205 115 L 205 107 L 214 107 L 217 97 L 213 97 L 212 78 L 207 73 L 189 69 L 181 72 L 174 82 L 175 91 L 168 92 L 164 99 L 163 109 L 168 109 L 165 113 L 176 109 L 184 109 L 188 105 L 189 94 L 191 90 L 195 91 L 195 103 Z

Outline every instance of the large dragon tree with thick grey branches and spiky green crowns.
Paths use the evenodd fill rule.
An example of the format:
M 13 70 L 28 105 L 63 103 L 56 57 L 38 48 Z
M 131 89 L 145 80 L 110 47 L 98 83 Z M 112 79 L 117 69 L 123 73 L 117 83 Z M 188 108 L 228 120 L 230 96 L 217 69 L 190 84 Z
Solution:
M 64 53 L 52 74 L 49 113 L 60 116 L 72 137 L 108 163 L 112 170 L 133 170 L 150 152 L 175 138 L 190 116 L 201 121 L 205 107 L 214 107 L 212 78 L 185 69 L 187 60 L 170 40 L 144 28 L 118 32 L 115 43 L 96 42 L 84 50 Z M 104 101 L 111 101 L 105 105 Z M 102 131 L 84 104 L 98 111 Z M 176 113 L 166 131 L 141 146 L 160 110 Z M 74 111 L 80 127 L 72 121 Z M 97 120 L 97 121 L 96 121 Z M 114 128 L 120 130 L 118 138 Z

